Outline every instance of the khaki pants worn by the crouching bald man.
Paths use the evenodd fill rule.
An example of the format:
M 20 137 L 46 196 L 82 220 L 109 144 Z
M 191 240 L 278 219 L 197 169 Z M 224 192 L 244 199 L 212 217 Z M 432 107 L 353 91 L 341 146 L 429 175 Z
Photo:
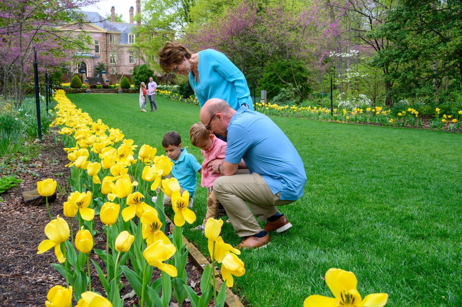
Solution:
M 236 175 L 217 178 L 213 184 L 213 192 L 225 207 L 234 231 L 240 237 L 255 235 L 261 231 L 254 214 L 261 222 L 278 212 L 276 206 L 294 202 L 280 200 L 280 193 L 273 194 L 263 177 L 256 173 L 249 174 L 249 169 L 239 169 Z M 254 211 L 253 214 L 250 208 Z

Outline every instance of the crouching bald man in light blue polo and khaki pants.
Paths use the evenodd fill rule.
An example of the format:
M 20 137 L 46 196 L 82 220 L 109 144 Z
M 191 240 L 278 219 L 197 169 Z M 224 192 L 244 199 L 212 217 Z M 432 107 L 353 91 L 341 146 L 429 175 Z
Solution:
M 225 160 L 214 160 L 208 167 L 224 175 L 215 180 L 213 190 L 235 232 L 244 237 L 237 247 L 266 245 L 268 232 L 292 227 L 277 206 L 303 195 L 306 174 L 302 159 L 269 117 L 245 106 L 235 111 L 224 100 L 213 98 L 201 108 L 199 117 L 211 131 L 227 137 Z M 238 169 L 241 159 L 248 169 Z M 260 222 L 267 220 L 265 229 L 250 208 Z

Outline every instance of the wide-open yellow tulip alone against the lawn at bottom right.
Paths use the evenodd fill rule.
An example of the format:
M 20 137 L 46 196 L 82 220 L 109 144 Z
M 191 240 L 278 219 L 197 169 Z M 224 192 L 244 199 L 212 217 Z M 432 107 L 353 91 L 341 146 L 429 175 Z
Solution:
M 326 272 L 325 277 L 335 298 L 310 295 L 305 299 L 304 307 L 383 307 L 388 301 L 388 294 L 386 293 L 370 294 L 362 300 L 356 289 L 358 280 L 352 272 L 332 268 Z

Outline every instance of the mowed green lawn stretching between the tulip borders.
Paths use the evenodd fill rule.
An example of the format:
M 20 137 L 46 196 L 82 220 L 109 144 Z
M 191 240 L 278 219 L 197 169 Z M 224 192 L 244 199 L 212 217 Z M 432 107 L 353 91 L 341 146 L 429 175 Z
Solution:
M 203 160 L 188 139 L 198 106 L 158 97 L 158 112 L 141 113 L 137 94 L 68 96 L 93 120 L 158 154 L 164 133 L 178 131 Z M 308 180 L 301 199 L 280 207 L 292 229 L 240 256 L 246 273 L 232 290 L 246 306 L 303 306 L 308 295 L 332 296 L 323 280 L 331 267 L 353 271 L 363 297 L 388 293 L 387 306 L 462 306 L 462 135 L 272 120 L 297 148 Z M 206 211 L 206 191 L 197 189 L 193 227 Z M 185 227 L 184 235 L 208 255 L 201 233 Z M 239 242 L 230 224 L 222 236 Z

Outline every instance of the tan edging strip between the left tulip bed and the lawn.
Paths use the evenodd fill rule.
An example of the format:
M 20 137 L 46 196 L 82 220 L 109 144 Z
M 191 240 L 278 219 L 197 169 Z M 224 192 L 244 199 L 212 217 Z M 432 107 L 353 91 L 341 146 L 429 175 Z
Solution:
M 170 221 L 170 218 L 165 216 L 167 221 Z M 171 222 L 171 221 L 170 221 Z M 173 234 L 173 230 L 175 229 L 175 224 L 171 223 L 170 224 L 170 233 Z M 204 257 L 204 255 L 199 252 L 199 250 L 186 240 L 186 238 L 183 236 L 183 244 L 186 244 L 186 248 L 189 248 L 188 256 L 191 262 L 195 265 L 195 267 L 201 271 L 201 273 L 204 271 L 204 267 L 206 265 L 210 265 L 210 262 Z M 219 277 L 220 274 L 217 270 L 215 271 L 215 284 L 217 286 L 217 290 L 219 291 L 221 289 L 221 286 L 223 285 L 223 281 Z M 244 307 L 244 305 L 239 301 L 236 295 L 234 295 L 229 288 L 226 289 L 226 294 L 225 294 L 225 307 Z

